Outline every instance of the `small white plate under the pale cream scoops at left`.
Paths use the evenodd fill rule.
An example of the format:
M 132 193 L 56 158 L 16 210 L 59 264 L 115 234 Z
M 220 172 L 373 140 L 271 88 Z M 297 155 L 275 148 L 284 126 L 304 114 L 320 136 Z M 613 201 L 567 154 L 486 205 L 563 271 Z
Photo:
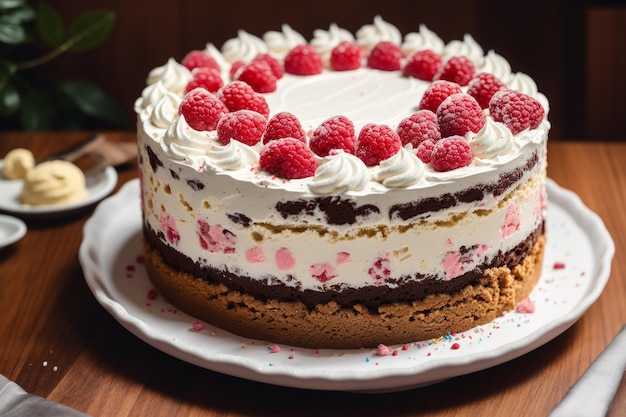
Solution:
M 4 160 L 0 160 L 0 211 L 23 219 L 57 218 L 88 207 L 108 196 L 117 185 L 117 171 L 106 167 L 102 172 L 86 177 L 89 195 L 74 203 L 60 206 L 28 206 L 20 202 L 23 180 L 8 180 L 1 174 Z

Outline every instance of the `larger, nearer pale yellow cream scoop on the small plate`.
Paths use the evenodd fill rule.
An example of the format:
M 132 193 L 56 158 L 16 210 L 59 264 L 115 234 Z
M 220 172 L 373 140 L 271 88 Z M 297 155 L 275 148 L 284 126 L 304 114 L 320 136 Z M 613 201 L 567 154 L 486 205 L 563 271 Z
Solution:
M 85 174 L 71 162 L 42 162 L 24 177 L 21 200 L 33 206 L 69 204 L 87 197 Z

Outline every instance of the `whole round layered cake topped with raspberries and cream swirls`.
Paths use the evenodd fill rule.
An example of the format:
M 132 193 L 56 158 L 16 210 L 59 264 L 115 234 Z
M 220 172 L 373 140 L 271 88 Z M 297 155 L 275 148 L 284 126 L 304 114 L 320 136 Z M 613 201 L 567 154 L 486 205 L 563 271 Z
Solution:
M 377 16 L 240 30 L 135 103 L 157 292 L 242 338 L 427 340 L 527 300 L 545 246 L 548 101 L 465 35 Z

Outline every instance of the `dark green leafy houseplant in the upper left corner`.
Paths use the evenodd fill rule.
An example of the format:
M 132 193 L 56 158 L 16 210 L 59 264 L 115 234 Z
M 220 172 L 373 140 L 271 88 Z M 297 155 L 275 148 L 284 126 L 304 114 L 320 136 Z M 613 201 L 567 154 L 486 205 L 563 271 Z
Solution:
M 46 65 L 101 44 L 114 23 L 113 12 L 97 10 L 66 25 L 44 2 L 0 0 L 0 129 L 126 126 L 120 106 L 95 83 L 55 79 Z

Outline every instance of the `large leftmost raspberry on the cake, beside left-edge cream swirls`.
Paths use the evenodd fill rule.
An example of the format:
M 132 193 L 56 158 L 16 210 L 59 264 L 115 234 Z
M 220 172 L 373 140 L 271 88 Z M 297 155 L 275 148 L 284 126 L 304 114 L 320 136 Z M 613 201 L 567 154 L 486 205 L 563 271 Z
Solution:
M 215 130 L 217 122 L 226 113 L 226 105 L 202 87 L 185 94 L 178 107 L 178 114 L 195 130 Z

